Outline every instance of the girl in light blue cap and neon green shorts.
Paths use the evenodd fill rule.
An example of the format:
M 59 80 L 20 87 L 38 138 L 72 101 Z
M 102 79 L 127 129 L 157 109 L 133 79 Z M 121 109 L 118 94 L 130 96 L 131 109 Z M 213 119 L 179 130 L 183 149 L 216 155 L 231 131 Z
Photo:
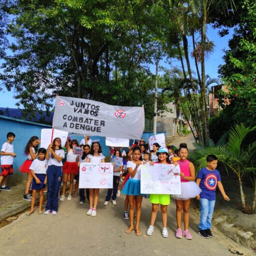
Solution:
M 155 164 L 170 164 L 168 149 L 166 147 L 160 147 L 156 152 L 158 157 L 158 162 Z M 156 215 L 158 212 L 158 207 L 160 204 L 160 209 L 162 213 L 162 220 L 163 220 L 163 229 L 162 229 L 162 236 L 168 237 L 168 230 L 167 230 L 167 207 L 170 204 L 170 195 L 159 195 L 159 194 L 151 194 L 149 196 L 149 200 L 152 203 L 152 212 L 150 218 L 150 226 L 147 229 L 146 234 L 151 236 L 154 232 L 154 224 L 156 221 Z

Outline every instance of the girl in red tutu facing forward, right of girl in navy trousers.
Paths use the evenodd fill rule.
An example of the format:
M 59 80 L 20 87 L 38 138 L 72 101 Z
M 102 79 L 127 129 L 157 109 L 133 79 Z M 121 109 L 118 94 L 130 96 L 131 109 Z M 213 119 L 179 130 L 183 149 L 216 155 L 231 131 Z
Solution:
M 71 193 L 74 185 L 74 177 L 75 177 L 75 174 L 78 173 L 79 171 L 79 167 L 76 162 L 77 156 L 73 154 L 73 146 L 79 147 L 77 140 L 73 140 L 71 142 L 67 140 L 68 154 L 67 154 L 67 160 L 63 165 L 64 178 L 63 178 L 63 186 L 62 186 L 62 195 L 59 198 L 60 201 L 65 200 L 65 192 L 66 192 L 66 186 L 67 186 L 69 175 L 70 175 L 70 192 L 67 200 L 72 199 Z

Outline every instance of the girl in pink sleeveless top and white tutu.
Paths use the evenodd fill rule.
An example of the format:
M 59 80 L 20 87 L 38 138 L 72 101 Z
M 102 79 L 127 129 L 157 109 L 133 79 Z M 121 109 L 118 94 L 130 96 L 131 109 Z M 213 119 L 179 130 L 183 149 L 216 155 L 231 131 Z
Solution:
M 188 231 L 189 226 L 189 206 L 191 198 L 195 198 L 201 193 L 201 189 L 195 183 L 196 171 L 193 163 L 187 160 L 188 149 L 186 143 L 181 143 L 179 148 L 180 160 L 179 164 L 181 169 L 181 194 L 176 195 L 176 219 L 177 227 L 176 238 L 182 238 L 185 236 L 186 239 L 192 239 L 190 232 Z M 182 210 L 184 215 L 184 231 L 181 229 Z

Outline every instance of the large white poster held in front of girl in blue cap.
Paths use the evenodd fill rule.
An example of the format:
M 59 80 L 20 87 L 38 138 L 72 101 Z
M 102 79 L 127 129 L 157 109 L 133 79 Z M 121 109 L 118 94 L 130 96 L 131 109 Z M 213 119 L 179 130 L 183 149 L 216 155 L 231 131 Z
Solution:
M 141 165 L 142 194 L 181 194 L 180 166 L 173 164 Z

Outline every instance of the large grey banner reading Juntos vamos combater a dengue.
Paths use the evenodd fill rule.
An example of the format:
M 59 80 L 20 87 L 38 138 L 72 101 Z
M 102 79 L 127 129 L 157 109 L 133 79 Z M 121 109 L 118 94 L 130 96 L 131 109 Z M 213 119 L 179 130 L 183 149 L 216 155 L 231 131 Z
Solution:
M 57 96 L 53 128 L 86 135 L 140 139 L 144 130 L 144 108 Z

